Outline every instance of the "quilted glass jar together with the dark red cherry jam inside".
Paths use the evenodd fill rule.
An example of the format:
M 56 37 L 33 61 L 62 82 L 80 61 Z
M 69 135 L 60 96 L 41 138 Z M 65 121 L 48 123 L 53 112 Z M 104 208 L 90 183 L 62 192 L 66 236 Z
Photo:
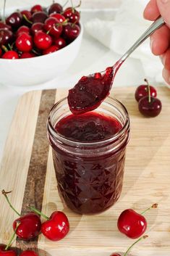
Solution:
M 96 214 L 119 199 L 129 141 L 129 115 L 123 104 L 107 97 L 93 112 L 72 115 L 67 98 L 48 116 L 59 193 L 80 214 Z

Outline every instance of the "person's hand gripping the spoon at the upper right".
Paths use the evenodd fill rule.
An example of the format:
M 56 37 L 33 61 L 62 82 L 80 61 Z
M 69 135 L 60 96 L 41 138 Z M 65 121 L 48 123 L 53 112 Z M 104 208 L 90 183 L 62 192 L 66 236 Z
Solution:
M 162 75 L 166 83 L 170 85 L 170 0 L 150 0 L 145 7 L 145 19 L 156 20 L 160 15 L 166 25 L 150 36 L 150 48 L 153 54 L 161 57 L 164 66 Z

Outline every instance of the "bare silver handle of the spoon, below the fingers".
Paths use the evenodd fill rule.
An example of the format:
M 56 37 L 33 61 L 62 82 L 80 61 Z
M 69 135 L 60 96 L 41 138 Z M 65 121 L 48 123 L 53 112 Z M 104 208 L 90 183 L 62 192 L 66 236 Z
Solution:
M 127 57 L 129 57 L 129 55 L 132 54 L 132 52 L 135 51 L 135 49 L 137 49 L 137 47 L 140 46 L 140 44 L 142 44 L 143 41 L 145 41 L 145 39 L 147 39 L 158 28 L 161 28 L 161 26 L 164 24 L 165 22 L 163 20 L 163 17 L 158 17 L 158 19 L 154 21 L 152 25 L 150 25 L 148 30 L 146 30 L 145 33 L 143 33 L 143 35 L 140 36 L 140 38 L 135 42 L 135 44 L 132 45 L 132 47 L 122 56 L 122 58 L 119 61 L 124 62 L 124 60 L 127 59 Z

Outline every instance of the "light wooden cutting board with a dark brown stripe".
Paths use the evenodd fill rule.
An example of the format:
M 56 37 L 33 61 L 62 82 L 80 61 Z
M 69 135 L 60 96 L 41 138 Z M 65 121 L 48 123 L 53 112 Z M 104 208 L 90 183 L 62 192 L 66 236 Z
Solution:
M 4 148 L 0 189 L 12 190 L 9 199 L 19 212 L 27 212 L 27 203 L 46 215 L 63 210 L 69 218 L 70 232 L 58 242 L 42 235 L 30 242 L 17 239 L 17 247 L 38 248 L 40 256 L 109 256 L 115 251 L 124 252 L 134 240 L 117 231 L 119 214 L 127 208 L 141 212 L 158 202 L 158 209 L 145 214 L 149 238 L 137 244 L 133 255 L 170 255 L 170 91 L 158 88 L 163 110 L 155 118 L 140 115 L 134 92 L 135 88 L 114 88 L 112 93 L 127 107 L 131 120 L 122 196 L 109 210 L 93 216 L 77 215 L 61 202 L 46 139 L 48 112 L 67 91 L 30 91 L 21 97 Z M 0 242 L 6 243 L 17 215 L 2 195 L 0 204 Z

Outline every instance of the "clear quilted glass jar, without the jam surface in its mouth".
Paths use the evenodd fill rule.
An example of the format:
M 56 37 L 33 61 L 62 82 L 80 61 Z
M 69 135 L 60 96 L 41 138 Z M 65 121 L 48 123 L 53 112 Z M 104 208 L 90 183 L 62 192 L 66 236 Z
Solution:
M 111 97 L 95 112 L 114 117 L 122 129 L 109 139 L 90 143 L 61 136 L 55 126 L 71 114 L 67 98 L 57 102 L 48 116 L 48 141 L 59 193 L 67 206 L 80 214 L 103 212 L 114 205 L 122 191 L 129 115 L 124 105 Z

